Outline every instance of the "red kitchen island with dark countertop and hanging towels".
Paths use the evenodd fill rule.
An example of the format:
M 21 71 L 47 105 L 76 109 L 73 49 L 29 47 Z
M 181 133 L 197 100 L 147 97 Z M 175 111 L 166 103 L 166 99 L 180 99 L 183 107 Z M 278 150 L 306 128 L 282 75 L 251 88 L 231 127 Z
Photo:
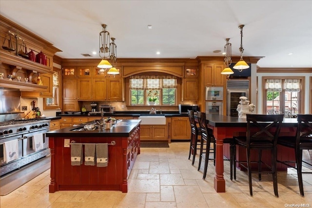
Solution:
M 88 122 L 96 123 L 97 120 Z M 120 190 L 128 191 L 128 176 L 140 153 L 141 120 L 121 120 L 109 130 L 73 131 L 81 126 L 47 132 L 51 149 L 51 182 L 49 192 L 59 190 Z M 107 167 L 71 165 L 69 143 L 107 143 Z M 82 145 L 84 149 L 84 145 Z M 84 158 L 84 157 L 83 157 Z

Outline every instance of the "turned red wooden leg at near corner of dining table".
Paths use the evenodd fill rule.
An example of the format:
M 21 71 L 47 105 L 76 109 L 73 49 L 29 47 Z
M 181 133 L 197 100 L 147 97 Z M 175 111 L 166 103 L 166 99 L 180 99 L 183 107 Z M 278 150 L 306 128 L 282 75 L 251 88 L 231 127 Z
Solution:
M 215 138 L 215 179 L 216 192 L 225 192 L 225 180 L 223 178 L 223 140 Z

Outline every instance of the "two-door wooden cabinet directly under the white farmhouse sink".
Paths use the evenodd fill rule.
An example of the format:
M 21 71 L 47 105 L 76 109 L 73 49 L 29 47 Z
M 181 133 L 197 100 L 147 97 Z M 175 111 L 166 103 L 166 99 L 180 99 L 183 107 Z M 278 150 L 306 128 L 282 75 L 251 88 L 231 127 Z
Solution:
M 167 125 L 140 125 L 140 140 L 168 140 Z

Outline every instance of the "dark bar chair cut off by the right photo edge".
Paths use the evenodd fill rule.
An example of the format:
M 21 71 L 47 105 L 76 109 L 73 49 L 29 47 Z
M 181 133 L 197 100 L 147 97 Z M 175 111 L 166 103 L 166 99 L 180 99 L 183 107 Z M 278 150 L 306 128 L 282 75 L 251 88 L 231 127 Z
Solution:
M 300 195 L 304 197 L 302 173 L 312 173 L 312 171 L 302 172 L 302 163 L 312 167 L 307 161 L 302 161 L 302 151 L 312 150 L 312 114 L 297 114 L 298 127 L 295 136 L 280 136 L 277 144 L 294 149 L 295 161 L 277 161 L 297 170 Z M 293 165 L 295 164 L 295 166 Z

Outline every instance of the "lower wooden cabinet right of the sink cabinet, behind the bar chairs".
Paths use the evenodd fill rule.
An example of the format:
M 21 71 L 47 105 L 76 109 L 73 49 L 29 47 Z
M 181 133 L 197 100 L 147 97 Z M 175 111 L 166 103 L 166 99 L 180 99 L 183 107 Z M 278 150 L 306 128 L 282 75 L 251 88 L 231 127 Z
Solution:
M 188 117 L 171 118 L 171 140 L 189 140 L 191 138 L 190 120 Z

